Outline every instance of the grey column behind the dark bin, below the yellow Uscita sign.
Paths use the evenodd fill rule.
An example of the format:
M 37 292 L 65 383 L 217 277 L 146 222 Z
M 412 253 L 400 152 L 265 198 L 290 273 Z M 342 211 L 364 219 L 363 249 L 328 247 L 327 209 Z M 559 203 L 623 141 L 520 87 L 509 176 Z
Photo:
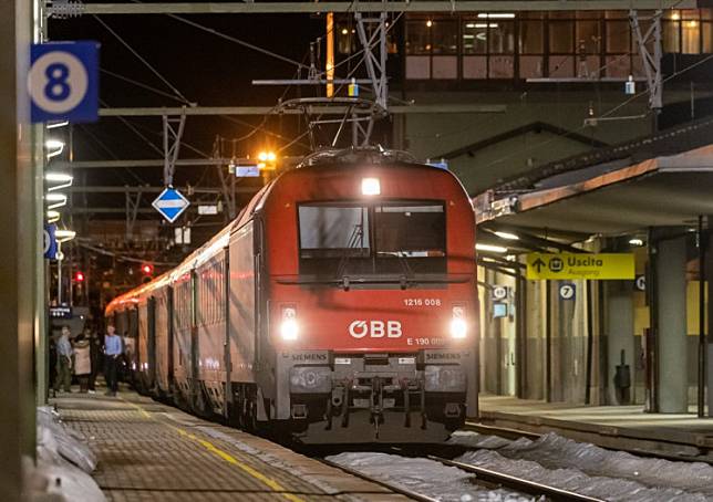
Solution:
M 627 405 L 614 384 L 617 366 L 629 366 L 630 381 L 633 384 L 634 341 L 633 341 L 633 292 L 624 281 L 609 281 L 607 287 L 607 404 Z M 630 397 L 633 387 L 629 388 Z

